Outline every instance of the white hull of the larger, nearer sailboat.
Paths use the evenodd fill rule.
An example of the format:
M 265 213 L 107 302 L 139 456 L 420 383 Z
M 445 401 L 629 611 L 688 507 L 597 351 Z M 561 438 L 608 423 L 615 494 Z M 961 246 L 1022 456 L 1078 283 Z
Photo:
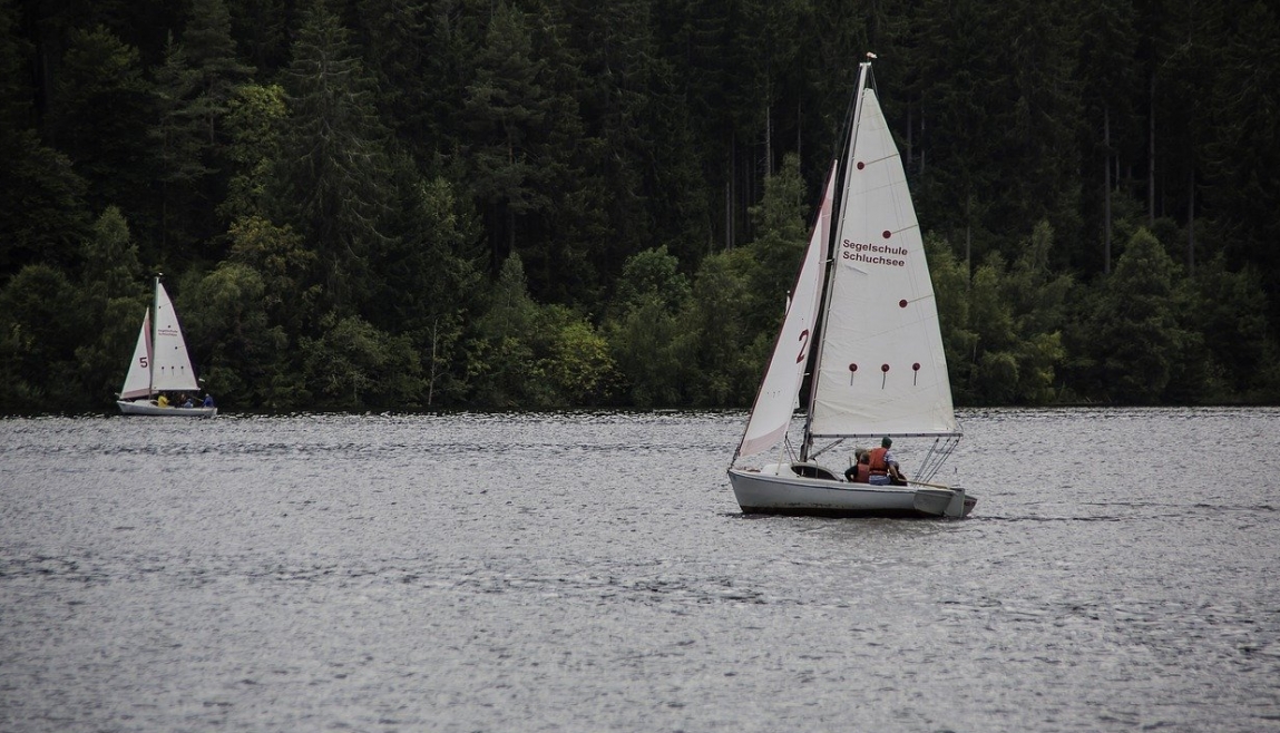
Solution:
M 746 514 L 801 517 L 963 518 L 977 499 L 964 489 L 874 486 L 838 478 L 803 477 L 790 466 L 762 471 L 731 468 L 730 484 Z

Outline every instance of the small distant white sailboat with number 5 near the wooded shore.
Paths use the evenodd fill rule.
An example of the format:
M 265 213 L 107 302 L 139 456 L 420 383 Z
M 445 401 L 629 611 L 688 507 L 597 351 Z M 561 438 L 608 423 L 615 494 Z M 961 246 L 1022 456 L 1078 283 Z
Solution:
M 214 417 L 218 414 L 216 407 L 168 407 L 160 406 L 155 399 L 163 391 L 192 395 L 200 391 L 173 301 L 159 276 L 155 284 L 155 298 L 142 316 L 138 343 L 133 348 L 129 371 L 124 375 L 124 386 L 115 404 L 124 414 Z

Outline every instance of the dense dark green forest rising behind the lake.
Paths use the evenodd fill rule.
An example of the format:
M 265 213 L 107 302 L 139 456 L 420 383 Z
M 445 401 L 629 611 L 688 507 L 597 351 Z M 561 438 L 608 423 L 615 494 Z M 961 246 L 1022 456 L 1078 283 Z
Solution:
M 744 407 L 858 61 L 961 404 L 1280 400 L 1280 12 L 0 0 L 0 411 Z

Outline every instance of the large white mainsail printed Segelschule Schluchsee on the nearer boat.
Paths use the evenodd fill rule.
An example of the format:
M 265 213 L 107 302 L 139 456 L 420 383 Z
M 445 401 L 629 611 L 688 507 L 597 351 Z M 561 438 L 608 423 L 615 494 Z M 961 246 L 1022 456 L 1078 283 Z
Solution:
M 957 434 L 920 226 L 870 88 L 851 134 L 809 431 Z

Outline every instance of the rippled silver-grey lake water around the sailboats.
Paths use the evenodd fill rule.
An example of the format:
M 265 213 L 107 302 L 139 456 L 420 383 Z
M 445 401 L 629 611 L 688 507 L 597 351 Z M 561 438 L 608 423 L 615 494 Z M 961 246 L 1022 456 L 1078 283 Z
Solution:
M 744 517 L 742 413 L 0 420 L 0 730 L 1280 730 L 1280 409 L 960 417 L 964 521 Z

